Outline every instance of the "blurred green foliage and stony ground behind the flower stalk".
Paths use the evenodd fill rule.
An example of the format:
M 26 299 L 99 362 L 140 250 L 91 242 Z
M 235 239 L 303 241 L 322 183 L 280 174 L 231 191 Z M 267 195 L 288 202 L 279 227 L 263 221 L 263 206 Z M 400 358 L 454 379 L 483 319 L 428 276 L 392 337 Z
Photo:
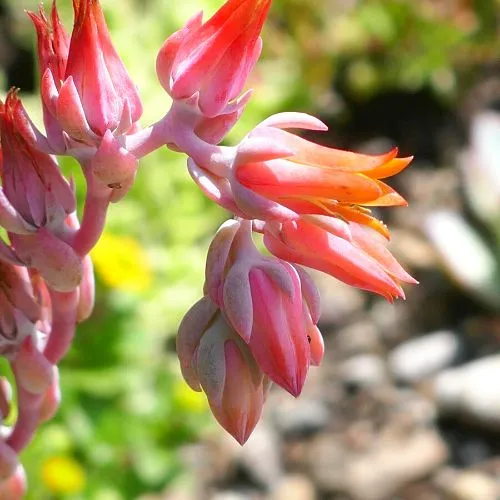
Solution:
M 40 123 L 24 9 L 0 0 L 0 88 Z M 144 125 L 169 100 L 163 40 L 219 0 L 102 0 Z M 71 2 L 58 6 L 71 26 Z M 317 275 L 326 357 L 302 396 L 272 391 L 244 448 L 183 382 L 175 333 L 227 218 L 182 155 L 142 162 L 93 251 L 97 303 L 61 365 L 63 403 L 23 454 L 30 500 L 500 498 L 500 2 L 274 0 L 255 94 L 227 141 L 271 113 L 315 114 L 323 144 L 414 155 L 381 211 L 420 281 L 406 302 Z M 78 166 L 64 171 L 84 183 Z M 5 365 L 1 365 L 4 370 Z M 15 418 L 15 415 L 12 417 Z

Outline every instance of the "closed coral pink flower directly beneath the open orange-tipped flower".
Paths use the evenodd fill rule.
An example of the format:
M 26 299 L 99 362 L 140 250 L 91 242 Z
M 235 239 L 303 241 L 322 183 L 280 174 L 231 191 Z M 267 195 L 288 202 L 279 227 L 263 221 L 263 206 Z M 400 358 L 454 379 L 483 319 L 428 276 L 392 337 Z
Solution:
M 385 238 L 356 222 L 310 215 L 264 226 L 264 243 L 281 259 L 334 276 L 392 301 L 404 298 L 401 283 L 416 281 L 385 246 Z

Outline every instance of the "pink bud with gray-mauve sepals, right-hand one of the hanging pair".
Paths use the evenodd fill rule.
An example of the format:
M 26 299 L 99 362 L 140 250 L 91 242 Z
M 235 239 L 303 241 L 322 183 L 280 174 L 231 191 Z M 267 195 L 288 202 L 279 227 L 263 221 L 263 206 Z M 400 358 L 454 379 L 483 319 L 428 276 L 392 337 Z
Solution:
M 322 356 L 315 327 L 319 294 L 305 271 L 299 274 L 290 263 L 261 255 L 251 231 L 250 221 L 235 220 L 218 231 L 208 252 L 205 293 L 248 344 L 261 370 L 298 396 L 311 358 L 319 363 Z

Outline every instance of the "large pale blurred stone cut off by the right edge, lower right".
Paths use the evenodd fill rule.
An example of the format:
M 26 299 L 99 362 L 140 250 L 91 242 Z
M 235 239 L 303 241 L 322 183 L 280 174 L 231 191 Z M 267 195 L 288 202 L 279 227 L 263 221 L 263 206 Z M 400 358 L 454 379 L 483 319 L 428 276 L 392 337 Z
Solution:
M 500 354 L 446 370 L 433 381 L 438 409 L 500 429 L 498 380 Z

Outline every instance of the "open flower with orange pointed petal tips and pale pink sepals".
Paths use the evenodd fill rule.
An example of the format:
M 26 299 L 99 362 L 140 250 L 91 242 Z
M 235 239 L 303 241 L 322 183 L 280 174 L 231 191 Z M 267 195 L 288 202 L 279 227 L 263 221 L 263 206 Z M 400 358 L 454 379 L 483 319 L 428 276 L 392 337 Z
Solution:
M 314 144 L 283 129 L 326 130 L 303 113 L 280 113 L 258 125 L 236 148 L 188 160 L 188 170 L 213 201 L 238 217 L 295 220 L 301 214 L 323 214 L 373 227 L 388 237 L 369 207 L 406 205 L 382 182 L 403 170 L 411 158 L 397 150 L 378 156 Z M 195 149 L 195 148 L 194 148 Z

